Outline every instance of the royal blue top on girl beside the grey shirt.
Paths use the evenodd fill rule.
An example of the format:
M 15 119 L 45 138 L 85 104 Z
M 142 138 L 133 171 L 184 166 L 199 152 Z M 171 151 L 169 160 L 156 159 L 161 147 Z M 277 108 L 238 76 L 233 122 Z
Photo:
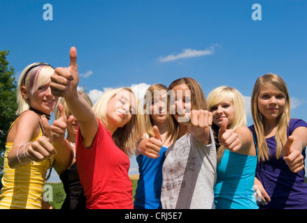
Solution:
M 134 195 L 134 208 L 161 209 L 162 167 L 167 148 L 161 147 L 159 157 L 137 155 L 140 177 Z

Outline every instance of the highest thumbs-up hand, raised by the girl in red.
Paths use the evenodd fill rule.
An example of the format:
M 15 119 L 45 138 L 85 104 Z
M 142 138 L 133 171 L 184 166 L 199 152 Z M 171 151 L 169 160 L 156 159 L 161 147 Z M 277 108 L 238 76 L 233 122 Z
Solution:
M 50 77 L 52 94 L 57 97 L 70 98 L 77 95 L 79 73 L 77 66 L 77 49 L 70 48 L 70 66 L 68 68 L 56 68 Z

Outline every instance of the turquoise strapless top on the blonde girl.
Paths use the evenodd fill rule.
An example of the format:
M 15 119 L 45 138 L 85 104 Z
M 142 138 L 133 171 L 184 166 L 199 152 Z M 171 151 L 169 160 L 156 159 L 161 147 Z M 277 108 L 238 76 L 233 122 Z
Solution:
M 253 190 L 256 167 L 257 155 L 243 155 L 226 149 L 217 164 L 215 208 L 258 209 Z

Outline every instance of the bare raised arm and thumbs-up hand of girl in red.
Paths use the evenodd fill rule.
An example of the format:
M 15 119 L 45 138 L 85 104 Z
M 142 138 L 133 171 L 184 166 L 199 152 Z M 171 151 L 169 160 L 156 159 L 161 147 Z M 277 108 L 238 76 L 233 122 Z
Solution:
M 84 146 L 90 147 L 97 132 L 98 122 L 88 102 L 77 91 L 79 73 L 75 47 L 70 48 L 70 66 L 56 68 L 51 79 L 52 94 L 65 98 L 68 109 L 79 122 Z

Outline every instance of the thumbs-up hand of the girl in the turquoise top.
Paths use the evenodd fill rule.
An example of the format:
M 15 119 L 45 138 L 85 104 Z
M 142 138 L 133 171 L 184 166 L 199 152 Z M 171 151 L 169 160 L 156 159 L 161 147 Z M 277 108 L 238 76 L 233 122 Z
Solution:
M 239 139 L 239 134 L 234 130 L 227 129 L 227 119 L 223 118 L 221 123 L 221 128 L 219 129 L 219 142 L 226 148 L 228 151 L 236 152 L 242 147 L 242 142 Z

